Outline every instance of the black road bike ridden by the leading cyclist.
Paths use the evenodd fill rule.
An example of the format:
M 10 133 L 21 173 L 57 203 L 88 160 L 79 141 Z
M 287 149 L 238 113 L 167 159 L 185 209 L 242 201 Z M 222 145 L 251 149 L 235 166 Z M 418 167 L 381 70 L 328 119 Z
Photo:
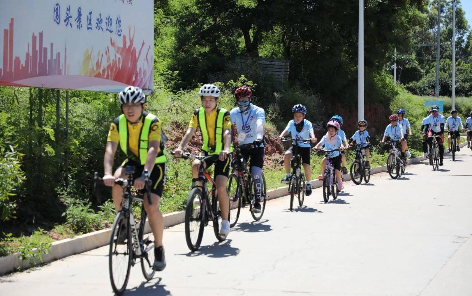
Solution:
M 141 218 L 139 225 L 135 222 L 131 203 L 133 200 L 143 203 L 143 195 L 135 195 L 131 192 L 133 186 L 133 173 L 135 166 L 127 165 L 125 168 L 126 178 L 118 178 L 115 184 L 123 187 L 123 207 L 118 211 L 110 234 L 110 248 L 108 265 L 110 271 L 111 288 L 116 295 L 123 295 L 129 280 L 131 266 L 135 266 L 136 259 L 141 261 L 141 270 L 144 278 L 151 280 L 156 272 L 154 264 L 154 241 L 152 236 L 144 238 L 144 226 L 146 223 L 146 211 L 141 205 Z M 98 183 L 103 183 L 98 173 L 94 174 L 94 191 Z M 151 181 L 145 179 L 145 190 L 148 202 L 151 201 Z M 119 242 L 120 233 L 126 231 L 125 242 Z M 123 237 L 123 235 L 121 235 Z

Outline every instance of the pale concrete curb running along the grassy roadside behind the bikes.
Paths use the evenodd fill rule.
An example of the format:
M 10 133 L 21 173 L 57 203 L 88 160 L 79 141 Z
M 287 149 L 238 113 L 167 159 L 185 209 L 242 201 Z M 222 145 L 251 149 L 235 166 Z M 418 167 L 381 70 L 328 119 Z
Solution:
M 464 142 L 460 147 L 467 145 Z M 446 153 L 445 153 L 446 154 Z M 426 158 L 423 156 L 408 159 L 407 164 L 417 164 Z M 371 174 L 383 173 L 387 171 L 387 165 L 378 166 L 371 168 Z M 349 173 L 344 175 L 345 181 L 351 180 Z M 312 180 L 312 188 L 320 188 L 322 182 L 319 180 Z M 288 194 L 288 186 L 280 187 L 277 189 L 271 189 L 267 191 L 267 199 L 275 199 L 286 196 Z M 164 226 L 170 227 L 185 221 L 185 211 L 173 212 L 164 215 Z M 146 233 L 150 232 L 149 223 L 146 222 L 145 227 Z M 34 265 L 40 265 L 44 263 L 50 263 L 52 261 L 75 255 L 83 252 L 93 250 L 97 247 L 106 246 L 110 241 L 110 229 L 98 230 L 91 233 L 76 236 L 74 238 L 66 238 L 63 240 L 55 241 L 51 244 L 51 250 L 48 254 L 43 254 L 43 261 L 34 260 Z M 32 267 L 26 260 L 21 260 L 19 254 L 12 254 L 5 257 L 0 257 L 0 275 L 4 275 L 13 271 L 22 270 Z

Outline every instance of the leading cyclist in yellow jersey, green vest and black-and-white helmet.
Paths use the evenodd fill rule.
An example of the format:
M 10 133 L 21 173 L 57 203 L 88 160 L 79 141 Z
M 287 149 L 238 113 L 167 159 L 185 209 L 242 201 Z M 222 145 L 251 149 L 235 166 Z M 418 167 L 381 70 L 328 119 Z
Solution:
M 103 166 L 105 175 L 103 183 L 113 187 L 113 203 L 117 211 L 121 210 L 123 202 L 123 189 L 115 185 L 116 178 L 125 177 L 126 165 L 136 167 L 134 187 L 137 190 L 144 190 L 145 177 L 152 181 L 151 201 L 149 205 L 147 197 L 143 199 L 144 209 L 149 217 L 149 224 L 155 239 L 154 248 L 154 269 L 162 271 L 166 267 L 164 247 L 162 246 L 162 234 L 164 232 L 164 222 L 159 210 L 159 201 L 164 190 L 166 180 L 166 136 L 162 132 L 161 122 L 156 115 L 144 112 L 146 108 L 146 98 L 143 90 L 138 87 L 128 86 L 119 93 L 118 101 L 121 104 L 122 115 L 119 115 L 110 124 L 107 145 Z M 115 174 L 112 174 L 113 158 L 118 148 L 118 143 L 127 156 L 126 160 L 118 167 Z M 126 227 L 122 225 L 121 227 Z M 124 243 L 127 238 L 126 231 L 119 231 L 118 243 Z

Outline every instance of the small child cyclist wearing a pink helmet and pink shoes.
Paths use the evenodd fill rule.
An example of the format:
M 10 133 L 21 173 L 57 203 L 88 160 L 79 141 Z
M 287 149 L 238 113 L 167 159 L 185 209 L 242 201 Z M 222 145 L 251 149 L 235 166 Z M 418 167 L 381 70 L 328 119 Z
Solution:
M 337 134 L 341 125 L 336 120 L 330 120 L 326 127 L 328 132 L 326 135 L 323 136 L 321 141 L 316 144 L 313 150 L 320 148 L 320 146 L 324 146 L 325 150 L 333 150 L 338 149 L 343 151 L 345 149 L 343 145 L 343 140 Z M 340 151 L 334 151 L 331 155 L 329 155 L 329 162 L 334 167 L 334 172 L 336 173 L 337 178 L 337 189 L 342 190 L 344 189 L 343 185 L 343 178 L 341 175 L 341 154 Z M 323 180 L 324 171 L 326 170 L 326 157 L 323 158 L 323 162 L 321 164 L 321 174 L 318 176 L 318 180 Z

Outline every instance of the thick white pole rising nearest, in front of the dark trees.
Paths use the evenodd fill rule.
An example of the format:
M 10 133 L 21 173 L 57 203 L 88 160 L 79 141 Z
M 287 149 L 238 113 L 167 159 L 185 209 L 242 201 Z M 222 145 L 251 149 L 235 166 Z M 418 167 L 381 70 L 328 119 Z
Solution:
M 359 0 L 359 44 L 357 66 L 357 120 L 364 119 L 364 0 Z

